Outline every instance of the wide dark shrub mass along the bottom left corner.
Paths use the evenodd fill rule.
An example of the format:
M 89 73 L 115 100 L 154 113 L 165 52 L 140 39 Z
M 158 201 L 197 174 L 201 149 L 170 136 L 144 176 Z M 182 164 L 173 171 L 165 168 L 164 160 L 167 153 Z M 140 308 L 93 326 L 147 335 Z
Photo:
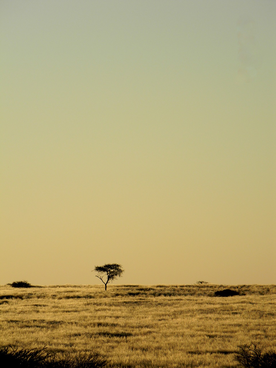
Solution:
M 98 353 L 51 353 L 42 349 L 0 348 L 1 367 L 20 368 L 107 368 L 107 360 Z

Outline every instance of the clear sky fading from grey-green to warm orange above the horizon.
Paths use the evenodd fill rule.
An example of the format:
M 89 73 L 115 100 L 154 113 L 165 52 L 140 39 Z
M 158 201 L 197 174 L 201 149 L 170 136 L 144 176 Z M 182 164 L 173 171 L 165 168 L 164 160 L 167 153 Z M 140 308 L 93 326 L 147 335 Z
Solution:
M 276 1 L 1 0 L 0 284 L 275 284 Z

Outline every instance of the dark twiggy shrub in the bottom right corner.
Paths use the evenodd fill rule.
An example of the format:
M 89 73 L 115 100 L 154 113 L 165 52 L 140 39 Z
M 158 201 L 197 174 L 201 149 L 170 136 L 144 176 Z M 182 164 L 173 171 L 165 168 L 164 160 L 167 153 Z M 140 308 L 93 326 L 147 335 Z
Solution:
M 244 344 L 239 346 L 235 359 L 240 367 L 245 368 L 275 368 L 276 352 L 269 351 L 264 353 L 259 344 Z

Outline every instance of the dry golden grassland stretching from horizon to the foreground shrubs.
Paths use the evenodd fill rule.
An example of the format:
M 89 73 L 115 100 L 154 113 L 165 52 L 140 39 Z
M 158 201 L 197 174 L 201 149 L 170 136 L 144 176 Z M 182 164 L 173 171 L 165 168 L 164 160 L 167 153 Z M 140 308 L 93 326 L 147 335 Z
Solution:
M 276 346 L 276 285 L 5 285 L 0 327 L 0 346 L 98 351 L 117 367 L 236 367 L 238 345 Z

